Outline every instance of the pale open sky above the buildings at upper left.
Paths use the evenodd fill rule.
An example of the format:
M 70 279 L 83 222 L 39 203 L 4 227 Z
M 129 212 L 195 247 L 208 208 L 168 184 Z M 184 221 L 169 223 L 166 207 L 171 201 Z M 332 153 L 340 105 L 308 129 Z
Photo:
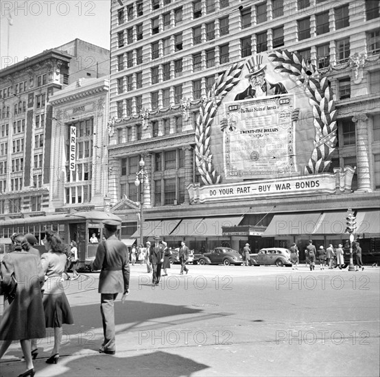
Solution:
M 1 0 L 1 69 L 75 38 L 110 49 L 110 1 Z

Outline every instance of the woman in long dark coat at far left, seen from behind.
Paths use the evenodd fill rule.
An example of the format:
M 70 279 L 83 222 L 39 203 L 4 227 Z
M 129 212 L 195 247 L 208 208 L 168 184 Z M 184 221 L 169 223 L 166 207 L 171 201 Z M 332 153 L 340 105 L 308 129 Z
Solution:
M 0 340 L 3 341 L 0 358 L 12 341 L 19 340 L 27 369 L 19 376 L 34 376 L 32 357 L 36 358 L 38 352 L 31 351 L 30 339 L 45 337 L 41 295 L 43 267 L 38 256 L 27 252 L 29 244 L 23 234 L 13 234 L 11 239 L 14 251 L 5 254 L 1 263 L 4 313 L 0 324 Z

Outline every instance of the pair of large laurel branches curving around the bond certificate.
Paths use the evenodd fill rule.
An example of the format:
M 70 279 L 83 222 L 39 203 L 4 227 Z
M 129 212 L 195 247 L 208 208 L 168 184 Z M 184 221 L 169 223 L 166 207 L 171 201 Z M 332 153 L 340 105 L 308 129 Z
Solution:
M 313 141 L 314 149 L 311 158 L 305 167 L 305 174 L 323 173 L 329 169 L 337 143 L 337 114 L 329 80 L 326 77 L 320 80 L 316 66 L 307 64 L 299 53 L 287 50 L 274 51 L 269 58 L 276 63 L 276 70 L 293 75 L 296 82 L 304 86 L 310 95 L 309 102 L 313 107 L 316 137 Z M 222 181 L 213 166 L 211 125 L 222 100 L 239 82 L 244 64 L 245 62 L 237 62 L 228 71 L 219 75 L 209 92 L 207 101 L 200 106 L 200 115 L 195 126 L 195 164 L 206 185 L 218 184 Z

